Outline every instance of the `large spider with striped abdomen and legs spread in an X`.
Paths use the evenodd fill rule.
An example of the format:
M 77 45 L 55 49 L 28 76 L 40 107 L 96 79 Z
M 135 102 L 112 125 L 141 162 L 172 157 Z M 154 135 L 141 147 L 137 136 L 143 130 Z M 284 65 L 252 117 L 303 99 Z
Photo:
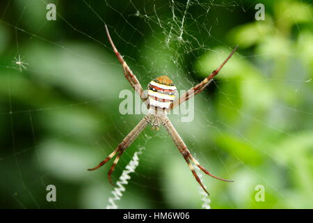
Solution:
M 198 181 L 202 189 L 207 192 L 206 188 L 202 184 L 198 174 L 195 172 L 193 164 L 200 168 L 205 174 L 217 178 L 218 180 L 223 180 L 227 182 L 233 182 L 233 180 L 225 180 L 223 178 L 219 178 L 218 176 L 214 176 L 211 174 L 207 169 L 202 167 L 202 165 L 195 160 L 193 155 L 191 155 L 190 151 L 188 150 L 186 144 L 182 140 L 182 138 L 179 136 L 177 130 L 175 130 L 174 126 L 170 122 L 167 116 L 167 112 L 169 112 L 174 107 L 180 105 L 182 102 L 185 102 L 189 98 L 193 97 L 194 95 L 200 93 L 203 91 L 203 89 L 212 81 L 213 77 L 215 77 L 221 68 L 227 63 L 227 61 L 230 59 L 232 54 L 234 54 L 235 50 L 237 49 L 238 45 L 232 50 L 229 56 L 227 56 L 227 59 L 213 72 L 211 72 L 210 75 L 208 75 L 200 84 L 197 84 L 193 88 L 189 89 L 182 95 L 181 98 L 175 100 L 175 95 L 177 93 L 177 89 L 175 84 L 173 84 L 172 80 L 166 76 L 163 75 L 161 77 L 157 77 L 156 79 L 153 79 L 148 84 L 148 93 L 145 95 L 143 92 L 143 88 L 141 87 L 141 84 L 138 82 L 137 77 L 134 75 L 134 73 L 131 71 L 129 66 L 127 66 L 127 63 L 123 59 L 123 56 L 118 52 L 118 49 L 116 49 L 110 33 L 107 26 L 105 26 L 106 29 L 106 36 L 109 39 L 109 43 L 111 44 L 113 48 L 113 52 L 118 57 L 118 61 L 122 63 L 122 67 L 124 70 L 125 77 L 127 81 L 131 84 L 133 89 L 138 93 L 143 100 L 143 102 L 146 103 L 148 108 L 147 116 L 143 117 L 141 121 L 136 125 L 136 127 L 127 134 L 125 139 L 122 140 L 120 144 L 118 144 L 118 147 L 113 151 L 109 156 L 107 156 L 102 162 L 100 162 L 97 167 L 94 167 L 92 169 L 88 169 L 89 171 L 93 171 L 95 169 L 98 169 L 99 167 L 102 167 L 106 162 L 111 160 L 116 154 L 115 160 L 109 169 L 108 178 L 109 182 L 113 185 L 111 181 L 111 174 L 116 166 L 118 164 L 118 160 L 120 160 L 120 156 L 122 153 L 131 145 L 131 143 L 138 137 L 138 135 L 145 129 L 145 127 L 148 124 L 152 125 L 152 128 L 158 130 L 160 125 L 163 125 L 168 133 L 170 134 L 170 137 L 172 137 L 172 140 L 175 142 L 175 145 L 177 146 L 180 153 L 182 153 L 182 156 L 186 160 L 188 167 L 191 169 L 191 172 L 193 173 L 193 176 L 195 177 L 195 180 Z M 192 164 L 193 163 L 193 164 Z

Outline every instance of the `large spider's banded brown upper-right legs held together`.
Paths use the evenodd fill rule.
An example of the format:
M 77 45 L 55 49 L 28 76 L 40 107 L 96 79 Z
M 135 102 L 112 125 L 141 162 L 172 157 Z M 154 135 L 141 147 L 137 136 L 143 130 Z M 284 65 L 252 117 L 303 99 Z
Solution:
M 225 65 L 225 63 L 227 63 L 227 61 L 230 59 L 230 57 L 232 57 L 232 54 L 234 54 L 234 52 L 236 51 L 236 49 L 238 48 L 238 45 L 232 50 L 232 52 L 230 53 L 229 56 L 227 56 L 227 59 L 225 59 L 225 61 L 220 64 L 220 66 L 214 70 L 213 72 L 211 72 L 210 75 L 208 75 L 206 78 L 204 78 L 204 80 L 202 82 L 200 82 L 199 84 L 197 84 L 196 86 L 192 87 L 191 89 L 189 89 L 188 91 L 186 91 L 186 93 L 184 93 L 184 95 L 182 95 L 181 98 L 178 98 L 177 100 L 173 101 L 170 104 L 169 109 L 173 109 L 174 107 L 176 107 L 177 105 L 182 104 L 182 102 L 185 102 L 186 100 L 188 100 L 189 98 L 193 97 L 194 95 L 200 93 L 201 91 L 203 91 L 208 85 L 209 83 L 211 83 L 211 81 L 213 80 L 213 78 L 218 75 L 218 72 L 220 71 L 220 69 L 223 68 L 223 66 Z

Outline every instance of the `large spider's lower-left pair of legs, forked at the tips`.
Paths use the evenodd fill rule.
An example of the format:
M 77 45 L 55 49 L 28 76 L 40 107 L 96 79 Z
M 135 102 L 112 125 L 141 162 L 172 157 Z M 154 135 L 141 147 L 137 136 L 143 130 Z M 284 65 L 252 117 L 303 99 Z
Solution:
M 131 145 L 131 143 L 138 137 L 138 135 L 145 129 L 148 123 L 150 123 L 150 118 L 148 118 L 147 116 L 143 117 L 143 119 L 141 119 L 138 125 L 136 125 L 136 127 L 133 130 L 131 130 L 129 134 L 127 134 L 125 139 L 122 140 L 122 142 L 118 145 L 118 148 L 116 148 L 115 151 L 113 151 L 108 157 L 106 157 L 102 162 L 100 162 L 97 165 L 97 167 L 94 167 L 88 170 L 92 171 L 92 170 L 98 169 L 99 167 L 102 167 L 104 164 L 106 164 L 106 162 L 111 160 L 116 153 L 118 153 L 108 173 L 109 182 L 111 183 L 111 185 L 113 185 L 112 180 L 111 180 L 111 174 L 113 170 L 115 169 L 116 164 L 118 164 L 118 160 L 120 160 L 120 156 Z

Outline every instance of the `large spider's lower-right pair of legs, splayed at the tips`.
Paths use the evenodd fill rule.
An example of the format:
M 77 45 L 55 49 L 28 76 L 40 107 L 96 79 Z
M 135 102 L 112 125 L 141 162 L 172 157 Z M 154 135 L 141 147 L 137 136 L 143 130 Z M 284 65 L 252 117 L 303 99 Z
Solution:
M 207 169 L 202 167 L 201 164 L 197 160 L 195 160 L 193 155 L 191 155 L 186 144 L 184 143 L 182 138 L 179 136 L 177 130 L 175 129 L 175 127 L 172 125 L 172 123 L 170 122 L 170 120 L 168 118 L 166 118 L 166 120 L 163 122 L 163 125 L 166 128 L 166 130 L 168 130 L 168 133 L 170 134 L 170 137 L 172 137 L 173 141 L 175 142 L 175 145 L 177 146 L 179 152 L 182 153 L 182 155 L 184 156 L 184 159 L 186 160 L 188 167 L 191 169 L 193 176 L 195 176 L 195 179 L 198 181 L 198 183 L 200 184 L 200 186 L 202 187 L 202 189 L 205 192 L 207 192 L 207 190 L 205 189 L 204 185 L 202 184 L 198 174 L 195 172 L 195 169 L 194 169 L 194 167 L 190 161 L 192 161 L 193 164 L 195 164 L 197 167 L 199 167 L 204 172 L 204 174 L 207 174 L 207 175 L 214 177 L 218 180 L 233 182 L 233 180 L 225 180 L 223 178 L 215 176 L 215 175 L 211 174 Z M 209 194 L 209 192 L 207 192 L 207 194 Z

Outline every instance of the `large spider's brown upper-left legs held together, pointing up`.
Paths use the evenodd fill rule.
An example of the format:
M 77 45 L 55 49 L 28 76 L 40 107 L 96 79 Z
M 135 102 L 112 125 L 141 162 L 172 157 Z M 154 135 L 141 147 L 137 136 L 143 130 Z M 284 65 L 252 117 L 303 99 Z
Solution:
M 118 61 L 120 61 L 120 63 L 122 63 L 124 75 L 125 75 L 127 81 L 129 82 L 129 84 L 131 84 L 131 86 L 138 93 L 138 95 L 141 97 L 141 99 L 148 105 L 147 95 L 145 95 L 145 93 L 143 93 L 143 87 L 141 86 L 137 77 L 134 75 L 134 73 L 131 71 L 131 69 L 129 68 L 129 66 L 127 65 L 125 60 L 123 59 L 123 56 L 118 52 L 118 49 L 116 49 L 116 47 L 113 43 L 113 40 L 110 36 L 108 26 L 105 25 L 105 28 L 106 28 L 106 36 L 108 36 L 109 42 L 113 48 L 113 52 L 116 54 L 116 56 L 118 56 Z

